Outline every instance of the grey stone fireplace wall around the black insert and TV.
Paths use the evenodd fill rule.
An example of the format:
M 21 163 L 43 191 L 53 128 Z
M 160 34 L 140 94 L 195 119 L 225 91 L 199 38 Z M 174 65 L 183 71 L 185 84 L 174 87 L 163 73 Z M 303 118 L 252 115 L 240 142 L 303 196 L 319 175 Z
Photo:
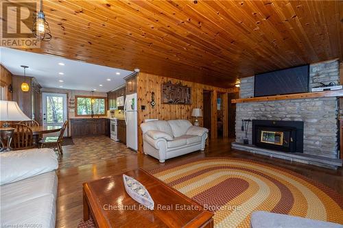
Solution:
M 309 72 L 309 88 L 320 82 L 339 84 L 338 60 L 311 64 Z M 254 77 L 241 79 L 239 98 L 253 96 Z M 243 144 L 245 137 L 241 131 L 242 119 L 253 121 L 247 138 L 254 147 L 333 159 L 339 157 L 337 97 L 237 103 L 236 144 Z

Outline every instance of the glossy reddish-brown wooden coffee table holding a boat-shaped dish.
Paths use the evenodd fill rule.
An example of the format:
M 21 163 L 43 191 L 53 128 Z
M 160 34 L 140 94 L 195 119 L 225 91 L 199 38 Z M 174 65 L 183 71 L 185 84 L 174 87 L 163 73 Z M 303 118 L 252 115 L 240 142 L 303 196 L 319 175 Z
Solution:
M 147 188 L 154 210 L 131 199 L 123 176 L 115 175 L 83 184 L 84 220 L 91 214 L 97 227 L 213 227 L 213 213 L 156 177 L 142 169 L 125 174 Z

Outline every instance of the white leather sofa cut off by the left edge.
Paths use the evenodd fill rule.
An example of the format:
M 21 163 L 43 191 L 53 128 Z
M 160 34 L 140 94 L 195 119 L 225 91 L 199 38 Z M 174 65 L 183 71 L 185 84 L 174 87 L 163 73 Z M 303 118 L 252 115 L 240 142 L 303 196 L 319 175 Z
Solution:
M 58 179 L 52 149 L 0 153 L 1 227 L 55 227 Z

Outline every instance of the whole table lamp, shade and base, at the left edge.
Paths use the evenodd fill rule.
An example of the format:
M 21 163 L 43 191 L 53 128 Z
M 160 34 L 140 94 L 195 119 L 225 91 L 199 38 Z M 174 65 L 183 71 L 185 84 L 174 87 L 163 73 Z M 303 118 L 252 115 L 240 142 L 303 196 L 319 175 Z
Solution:
M 0 126 L 0 152 L 11 151 L 14 128 L 10 127 L 7 121 L 31 121 L 31 119 L 21 111 L 16 101 L 0 101 L 0 121 L 5 121 L 3 126 Z

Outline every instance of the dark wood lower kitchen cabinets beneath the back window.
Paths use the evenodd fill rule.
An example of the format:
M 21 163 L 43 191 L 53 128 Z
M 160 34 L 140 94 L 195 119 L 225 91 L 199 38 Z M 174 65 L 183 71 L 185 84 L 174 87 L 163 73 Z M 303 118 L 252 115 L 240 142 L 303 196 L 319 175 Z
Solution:
M 108 118 L 71 118 L 71 137 L 110 135 Z

